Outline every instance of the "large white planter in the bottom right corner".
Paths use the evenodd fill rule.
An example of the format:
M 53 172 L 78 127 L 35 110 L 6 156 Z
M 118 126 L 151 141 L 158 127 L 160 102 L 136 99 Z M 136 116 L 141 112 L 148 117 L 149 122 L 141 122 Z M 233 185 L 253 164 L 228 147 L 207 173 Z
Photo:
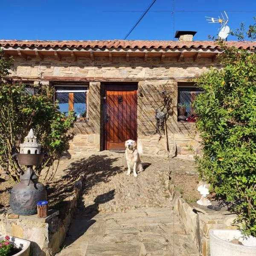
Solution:
M 238 239 L 241 244 L 231 243 Z M 244 237 L 239 230 L 210 230 L 211 256 L 256 256 L 256 237 Z

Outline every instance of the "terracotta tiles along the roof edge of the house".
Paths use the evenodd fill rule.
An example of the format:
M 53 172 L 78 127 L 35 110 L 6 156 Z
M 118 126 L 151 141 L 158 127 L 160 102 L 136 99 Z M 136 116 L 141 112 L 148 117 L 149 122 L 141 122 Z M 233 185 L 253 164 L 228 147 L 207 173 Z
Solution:
M 239 42 L 227 41 L 230 46 L 239 49 L 249 49 L 256 47 L 256 41 Z M 74 48 L 211 48 L 216 49 L 218 45 L 214 41 L 126 41 L 126 40 L 106 40 L 106 41 L 19 41 L 19 40 L 0 40 L 1 47 L 74 47 Z

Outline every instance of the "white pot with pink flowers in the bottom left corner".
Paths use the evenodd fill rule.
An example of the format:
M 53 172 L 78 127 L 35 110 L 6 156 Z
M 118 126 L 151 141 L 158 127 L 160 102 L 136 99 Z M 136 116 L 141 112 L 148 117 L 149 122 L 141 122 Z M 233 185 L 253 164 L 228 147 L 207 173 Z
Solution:
M 0 256 L 29 256 L 30 241 L 0 235 Z

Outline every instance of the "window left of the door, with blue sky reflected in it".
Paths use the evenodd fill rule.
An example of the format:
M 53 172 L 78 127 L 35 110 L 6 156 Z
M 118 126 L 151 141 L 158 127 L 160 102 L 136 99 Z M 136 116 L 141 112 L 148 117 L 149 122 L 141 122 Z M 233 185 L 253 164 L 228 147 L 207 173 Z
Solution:
M 88 118 L 88 87 L 85 86 L 56 86 L 55 100 L 62 113 L 74 111 L 77 121 Z

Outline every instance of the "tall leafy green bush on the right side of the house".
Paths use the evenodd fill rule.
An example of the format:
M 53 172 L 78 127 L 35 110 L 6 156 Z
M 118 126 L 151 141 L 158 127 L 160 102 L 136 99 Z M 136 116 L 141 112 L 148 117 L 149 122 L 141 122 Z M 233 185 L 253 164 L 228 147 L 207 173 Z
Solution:
M 196 123 L 204 145 L 200 176 L 229 202 L 245 234 L 256 236 L 256 55 L 219 43 L 222 70 L 196 79 Z

